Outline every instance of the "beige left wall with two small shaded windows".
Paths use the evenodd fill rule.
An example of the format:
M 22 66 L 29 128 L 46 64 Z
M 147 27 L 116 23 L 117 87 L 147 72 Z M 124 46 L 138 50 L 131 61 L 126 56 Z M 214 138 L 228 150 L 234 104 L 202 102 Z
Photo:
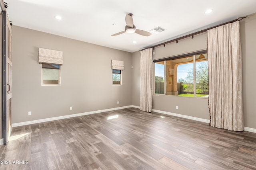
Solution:
M 38 47 L 63 51 L 61 86 L 40 85 Z M 12 123 L 132 104 L 131 53 L 13 26 L 12 54 Z M 122 86 L 112 85 L 111 59 L 124 61 Z

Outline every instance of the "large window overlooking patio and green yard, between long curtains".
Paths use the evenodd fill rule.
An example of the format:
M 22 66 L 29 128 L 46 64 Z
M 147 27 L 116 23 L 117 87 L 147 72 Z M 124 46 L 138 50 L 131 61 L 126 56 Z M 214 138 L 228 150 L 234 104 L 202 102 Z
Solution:
M 207 53 L 157 61 L 154 73 L 154 94 L 208 97 Z

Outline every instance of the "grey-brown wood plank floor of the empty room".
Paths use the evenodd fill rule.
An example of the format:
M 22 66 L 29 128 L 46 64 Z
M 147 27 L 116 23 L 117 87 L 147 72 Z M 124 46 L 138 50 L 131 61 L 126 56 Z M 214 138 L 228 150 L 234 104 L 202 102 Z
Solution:
M 14 127 L 12 138 L 1 170 L 256 169 L 255 133 L 136 108 Z

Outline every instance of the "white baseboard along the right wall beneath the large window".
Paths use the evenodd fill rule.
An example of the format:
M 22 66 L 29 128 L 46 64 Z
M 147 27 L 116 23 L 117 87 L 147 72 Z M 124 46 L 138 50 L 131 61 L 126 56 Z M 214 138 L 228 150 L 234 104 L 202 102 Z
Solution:
M 140 109 L 140 106 L 134 106 L 134 105 L 132 105 L 132 107 L 135 107 L 135 108 Z M 156 110 L 156 109 L 152 109 L 152 111 L 157 112 L 157 113 L 166 114 L 166 115 L 172 115 L 172 116 L 177 116 L 177 117 L 183 117 L 183 118 L 186 118 L 186 119 L 201 121 L 201 122 L 204 122 L 204 123 L 210 123 L 210 120 L 208 120 L 208 119 L 201 119 L 201 118 L 198 118 L 198 117 L 192 117 L 192 116 L 187 116 L 187 115 L 181 115 L 181 114 L 177 114 L 177 113 L 171 113 L 171 112 L 168 112 L 168 111 L 162 111 L 162 110 Z M 250 128 L 250 127 L 244 127 L 244 131 L 256 133 L 256 129 Z

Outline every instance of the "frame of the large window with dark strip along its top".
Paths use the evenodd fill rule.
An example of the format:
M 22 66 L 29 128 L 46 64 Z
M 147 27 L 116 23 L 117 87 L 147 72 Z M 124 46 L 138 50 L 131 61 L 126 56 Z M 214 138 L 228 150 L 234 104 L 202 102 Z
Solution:
M 173 57 L 167 57 L 167 58 L 164 58 L 164 59 L 156 59 L 153 61 L 153 78 L 152 78 L 152 83 L 153 83 L 153 94 L 156 95 L 156 96 L 161 96 L 161 95 L 164 95 L 164 96 L 175 96 L 175 95 L 167 95 L 167 88 L 166 88 L 166 61 L 168 60 L 174 60 L 174 59 L 180 59 L 180 58 L 183 58 L 183 57 L 188 57 L 188 56 L 193 56 L 193 66 L 194 66 L 194 70 L 193 70 L 193 76 L 194 76 L 194 80 L 193 80 L 193 84 L 196 84 L 196 55 L 200 55 L 200 54 L 208 54 L 208 51 L 207 49 L 206 50 L 202 50 L 202 51 L 196 51 L 196 52 L 193 52 L 193 53 L 187 53 L 187 54 L 183 54 L 183 55 L 177 55 L 177 56 L 173 56 Z M 155 93 L 155 73 L 156 73 L 156 70 L 155 70 L 155 63 L 159 62 L 159 61 L 164 61 L 164 94 L 157 94 Z M 184 63 L 183 63 L 184 64 Z M 179 64 L 180 65 L 180 64 Z M 178 67 L 178 66 L 177 66 Z M 193 97 L 188 97 L 188 96 L 178 96 L 178 97 L 186 97 L 186 98 L 204 98 L 204 99 L 208 99 L 208 97 L 204 97 L 204 96 L 196 96 L 196 85 L 193 86 Z

